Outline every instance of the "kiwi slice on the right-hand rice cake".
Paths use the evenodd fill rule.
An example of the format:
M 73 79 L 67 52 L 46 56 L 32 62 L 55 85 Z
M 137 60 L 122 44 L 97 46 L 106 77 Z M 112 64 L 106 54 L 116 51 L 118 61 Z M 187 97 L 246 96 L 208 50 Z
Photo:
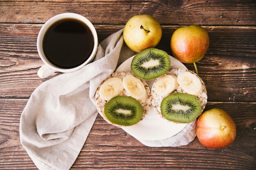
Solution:
M 173 122 L 189 123 L 201 113 L 201 104 L 195 96 L 175 93 L 166 96 L 161 103 L 164 118 Z

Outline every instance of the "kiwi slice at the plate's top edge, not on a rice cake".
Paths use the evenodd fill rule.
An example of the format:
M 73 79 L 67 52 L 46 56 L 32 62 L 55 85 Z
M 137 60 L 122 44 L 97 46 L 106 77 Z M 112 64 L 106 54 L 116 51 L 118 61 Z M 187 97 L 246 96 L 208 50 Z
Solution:
M 163 50 L 147 48 L 132 59 L 131 69 L 135 76 L 151 80 L 164 75 L 170 68 L 170 58 Z

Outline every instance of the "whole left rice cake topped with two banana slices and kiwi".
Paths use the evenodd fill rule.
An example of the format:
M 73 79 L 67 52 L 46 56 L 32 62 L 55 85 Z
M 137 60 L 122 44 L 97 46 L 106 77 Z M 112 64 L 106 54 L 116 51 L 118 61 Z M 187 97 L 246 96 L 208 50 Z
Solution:
M 147 83 L 132 72 L 113 72 L 99 85 L 95 99 L 100 115 L 115 126 L 137 124 L 151 107 Z

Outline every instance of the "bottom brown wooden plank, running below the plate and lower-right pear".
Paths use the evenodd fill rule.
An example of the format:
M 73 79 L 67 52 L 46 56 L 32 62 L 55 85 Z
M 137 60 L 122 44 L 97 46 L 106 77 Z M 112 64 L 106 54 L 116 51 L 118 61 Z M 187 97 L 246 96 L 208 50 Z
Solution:
M 0 99 L 1 169 L 36 169 L 19 141 L 20 113 L 26 103 L 27 99 Z M 207 103 L 205 110 L 224 109 L 236 122 L 235 141 L 222 149 L 205 148 L 197 138 L 187 146 L 150 148 L 98 115 L 71 169 L 255 169 L 255 107 L 256 102 Z

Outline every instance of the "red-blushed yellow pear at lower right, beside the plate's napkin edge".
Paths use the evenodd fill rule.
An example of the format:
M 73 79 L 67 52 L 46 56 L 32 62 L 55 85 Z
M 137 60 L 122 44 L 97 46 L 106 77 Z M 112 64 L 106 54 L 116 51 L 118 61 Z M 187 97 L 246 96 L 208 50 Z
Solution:
M 222 109 L 204 111 L 198 118 L 196 135 L 207 148 L 224 148 L 236 138 L 236 124 Z

